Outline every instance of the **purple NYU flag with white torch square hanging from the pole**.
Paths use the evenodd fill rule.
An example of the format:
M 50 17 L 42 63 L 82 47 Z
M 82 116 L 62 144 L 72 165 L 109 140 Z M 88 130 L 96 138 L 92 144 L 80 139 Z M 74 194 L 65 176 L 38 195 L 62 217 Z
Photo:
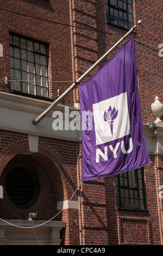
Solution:
M 134 36 L 79 86 L 82 181 L 151 163 L 141 117 Z

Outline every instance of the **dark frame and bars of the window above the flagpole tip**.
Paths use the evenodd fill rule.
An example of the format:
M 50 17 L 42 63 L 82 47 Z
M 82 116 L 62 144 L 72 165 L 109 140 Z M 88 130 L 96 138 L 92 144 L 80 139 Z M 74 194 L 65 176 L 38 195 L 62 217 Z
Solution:
M 120 1 L 120 0 L 116 0 L 116 1 Z M 124 0 L 122 0 L 124 2 Z M 121 1 L 121 2 L 122 2 Z M 133 9 L 133 0 L 125 0 L 126 1 L 126 10 L 122 7 L 120 7 L 120 5 L 112 5 L 110 3 L 110 0 L 106 0 L 105 1 L 105 5 L 106 5 L 106 22 L 112 26 L 116 26 L 116 27 L 119 27 L 119 28 L 122 28 L 122 29 L 127 29 L 127 30 L 130 30 L 133 26 L 134 26 L 134 9 Z M 131 3 L 129 3 L 129 1 Z M 132 13 L 129 12 L 129 8 L 128 6 L 131 5 L 131 11 Z M 121 19 L 121 17 L 118 17 L 118 16 L 115 16 L 114 13 L 113 15 L 110 14 L 110 8 L 113 9 L 113 11 L 117 11 L 118 13 L 121 12 L 122 15 L 125 13 L 126 14 L 126 20 L 124 19 L 124 16 L 123 18 Z M 132 22 L 129 21 L 129 15 L 132 15 Z M 120 26 L 120 25 L 116 25 L 115 23 L 112 23 L 111 22 L 111 16 L 117 20 L 122 20 L 122 22 L 124 23 L 124 21 L 126 21 L 127 23 L 127 27 L 125 26 Z M 131 26 L 129 26 L 131 24 Z

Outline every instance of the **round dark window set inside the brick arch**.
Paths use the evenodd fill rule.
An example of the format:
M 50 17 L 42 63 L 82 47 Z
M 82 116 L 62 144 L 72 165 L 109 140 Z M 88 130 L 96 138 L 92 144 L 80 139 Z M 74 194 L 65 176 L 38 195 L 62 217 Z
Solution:
M 5 190 L 14 205 L 26 209 L 39 197 L 40 180 L 33 169 L 17 164 L 7 174 Z

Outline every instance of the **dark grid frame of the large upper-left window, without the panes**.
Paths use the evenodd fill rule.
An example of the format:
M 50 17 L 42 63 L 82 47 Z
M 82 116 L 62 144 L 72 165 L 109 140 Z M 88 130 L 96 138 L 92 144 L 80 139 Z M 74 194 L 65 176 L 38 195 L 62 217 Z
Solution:
M 49 99 L 49 82 L 48 82 L 48 77 L 49 77 L 49 74 L 48 74 L 49 73 L 49 70 L 48 70 L 49 69 L 49 67 L 48 67 L 49 45 L 46 42 L 38 41 L 38 40 L 35 40 L 35 39 L 32 39 L 32 38 L 28 38 L 27 36 L 23 36 L 23 35 L 12 33 L 12 32 L 9 32 L 9 36 L 10 37 L 12 36 L 12 42 L 10 41 L 10 43 L 9 43 L 9 46 L 10 46 L 10 77 L 11 77 L 11 80 L 14 80 L 14 81 L 11 81 L 11 92 L 16 93 L 16 94 L 26 95 L 26 96 L 38 97 L 38 98 L 41 98 L 41 99 L 44 99 L 44 98 Z M 18 45 L 14 44 L 14 36 L 18 38 Z M 21 40 L 26 41 L 26 48 L 25 47 L 22 48 Z M 27 48 L 27 42 L 28 41 L 32 42 L 32 47 L 33 47 L 32 50 L 29 50 Z M 34 44 L 39 45 L 39 51 L 35 51 Z M 45 53 L 41 53 L 41 50 L 40 50 L 41 46 L 45 46 Z M 18 51 L 18 54 L 19 54 L 18 57 L 14 56 L 14 50 L 15 49 L 17 49 L 17 51 Z M 22 52 L 23 51 L 24 51 L 24 53 L 26 53 L 26 59 L 23 59 L 23 57 L 22 57 Z M 28 53 L 33 54 L 33 60 L 28 59 Z M 39 56 L 39 63 L 36 63 L 36 56 Z M 13 66 L 12 66 L 12 63 L 11 63 L 11 58 L 12 58 Z M 45 64 L 41 63 L 41 58 L 42 59 L 45 58 Z M 15 60 L 17 60 L 17 63 L 19 62 L 19 64 L 18 64 L 19 68 L 15 68 L 15 64 L 14 64 Z M 22 63 L 23 62 L 24 63 L 27 62 L 27 69 L 26 70 L 25 69 L 23 70 L 23 68 L 22 68 Z M 33 64 L 33 71 L 32 70 L 29 71 L 29 63 L 31 65 Z M 42 75 L 41 71 L 40 71 L 40 74 L 36 74 L 36 65 L 40 66 L 41 71 L 42 71 L 42 68 L 44 67 L 45 70 L 46 70 L 46 75 Z M 18 71 L 20 71 L 20 79 L 16 79 L 15 70 L 17 70 L 17 73 L 18 73 Z M 12 71 L 13 71 L 13 75 L 11 75 Z M 23 73 L 24 73 L 24 75 L 27 76 L 26 81 L 28 81 L 28 82 L 23 82 L 23 81 L 25 81 L 22 78 Z M 29 78 L 29 75 L 30 75 L 30 77 L 33 77 L 32 80 Z M 40 77 L 40 82 L 37 82 L 38 80 L 36 79 L 36 77 Z M 43 78 L 43 80 L 42 80 L 42 78 Z M 20 89 L 16 88 L 16 80 L 17 80 L 17 83 L 18 83 L 18 87 Z M 18 81 L 20 81 L 20 83 Z M 29 81 L 34 81 L 34 82 L 32 83 L 32 82 L 29 82 Z M 23 90 L 23 85 L 24 84 L 26 84 L 26 86 L 27 86 L 27 90 L 25 92 Z M 32 86 L 33 86 L 33 88 L 32 88 Z M 32 88 L 32 90 L 33 90 L 32 93 L 31 93 L 30 88 Z M 38 89 L 40 90 L 41 93 L 38 93 Z M 43 95 L 43 90 L 45 90 L 45 95 L 46 96 Z

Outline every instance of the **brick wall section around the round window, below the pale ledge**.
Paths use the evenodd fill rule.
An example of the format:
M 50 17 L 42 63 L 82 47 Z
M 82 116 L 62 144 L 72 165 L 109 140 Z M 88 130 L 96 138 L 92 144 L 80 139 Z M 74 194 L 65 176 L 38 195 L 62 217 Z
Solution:
M 3 199 L 0 200 L 0 216 L 5 220 L 26 220 L 30 212 L 37 212 L 35 220 L 49 220 L 58 214 L 57 202 L 70 200 L 77 188 L 77 151 L 75 142 L 39 138 L 38 153 L 29 151 L 28 136 L 22 133 L 1 130 L 1 180 Z M 8 170 L 16 163 L 28 164 L 40 179 L 40 194 L 36 203 L 27 209 L 17 208 L 11 203 L 5 190 Z M 72 200 L 78 200 L 78 191 Z M 74 224 L 78 210 L 65 209 L 55 221 L 66 221 L 61 232 L 63 244 L 79 244 L 79 230 Z M 76 237 L 74 239 L 74 234 Z

